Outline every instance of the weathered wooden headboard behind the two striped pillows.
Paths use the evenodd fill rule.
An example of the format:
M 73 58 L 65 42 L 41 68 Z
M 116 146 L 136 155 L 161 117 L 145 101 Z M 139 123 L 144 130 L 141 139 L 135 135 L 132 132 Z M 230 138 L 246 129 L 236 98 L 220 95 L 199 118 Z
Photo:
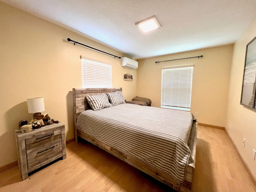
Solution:
M 76 89 L 73 88 L 73 106 L 74 106 L 74 122 L 75 122 L 75 138 L 77 141 L 76 134 L 76 119 L 78 115 L 84 110 L 91 109 L 88 101 L 86 99 L 87 95 L 98 95 L 101 93 L 109 93 L 122 91 L 122 88 L 84 88 L 84 89 Z

